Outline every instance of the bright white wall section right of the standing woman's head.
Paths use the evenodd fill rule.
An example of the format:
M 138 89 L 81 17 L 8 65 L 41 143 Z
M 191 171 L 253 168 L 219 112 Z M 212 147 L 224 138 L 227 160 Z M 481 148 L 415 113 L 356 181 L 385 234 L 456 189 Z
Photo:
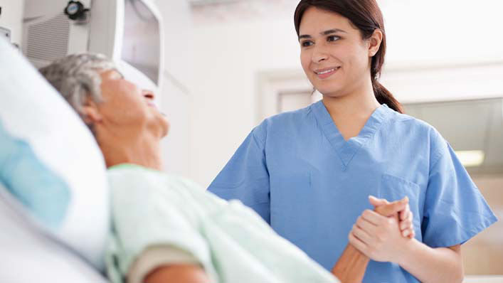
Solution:
M 503 60 L 502 1 L 389 0 L 381 6 L 390 63 Z

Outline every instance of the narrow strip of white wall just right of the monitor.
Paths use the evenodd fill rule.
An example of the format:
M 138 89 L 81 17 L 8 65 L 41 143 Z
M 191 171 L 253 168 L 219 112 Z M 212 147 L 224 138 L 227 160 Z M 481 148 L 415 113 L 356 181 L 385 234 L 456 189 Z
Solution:
M 100 0 L 101 1 L 101 0 Z M 186 1 L 156 0 L 164 18 L 166 74 L 163 78 L 160 110 L 171 129 L 162 142 L 164 169 L 169 173 L 190 176 L 189 139 L 191 92 L 192 23 Z

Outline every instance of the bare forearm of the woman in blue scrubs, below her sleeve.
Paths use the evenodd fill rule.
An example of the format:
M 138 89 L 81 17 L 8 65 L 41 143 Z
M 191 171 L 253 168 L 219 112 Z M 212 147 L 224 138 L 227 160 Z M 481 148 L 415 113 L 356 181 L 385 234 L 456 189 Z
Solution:
M 462 282 L 464 277 L 461 247 L 432 248 L 411 240 L 397 262 L 420 282 Z

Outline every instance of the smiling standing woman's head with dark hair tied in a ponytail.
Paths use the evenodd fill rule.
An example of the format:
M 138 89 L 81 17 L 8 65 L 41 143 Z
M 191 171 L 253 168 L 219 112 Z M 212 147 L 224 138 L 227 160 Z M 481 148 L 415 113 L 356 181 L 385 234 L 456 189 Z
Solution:
M 386 55 L 386 32 L 381 10 L 377 4 L 358 4 L 351 6 L 346 1 L 301 1 L 295 11 L 295 30 L 301 45 L 300 60 L 302 68 L 309 80 L 319 92 L 335 92 L 332 95 L 345 95 L 337 90 L 324 92 L 323 85 L 337 87 L 327 81 L 320 81 L 331 77 L 339 71 L 339 84 L 351 82 L 361 85 L 366 78 L 366 71 L 370 68 L 371 84 L 380 104 L 386 104 L 397 112 L 403 112 L 398 101 L 386 90 L 378 78 Z M 337 11 L 334 14 L 333 11 Z M 351 18 L 351 21 L 349 20 Z M 305 23 L 301 31 L 301 21 Z M 311 31 L 307 27 L 320 27 L 321 31 Z M 323 48 L 329 48 L 328 53 Z M 371 48 L 371 49 L 369 49 Z M 369 53 L 370 52 L 370 53 Z M 324 56 L 332 55 L 336 64 L 327 66 Z M 371 57 L 369 62 L 368 57 Z M 370 64 L 370 65 L 369 65 Z M 338 72 L 338 73 L 343 73 Z M 314 73 L 319 80 L 313 80 Z M 352 90 L 351 86 L 339 85 L 342 90 Z

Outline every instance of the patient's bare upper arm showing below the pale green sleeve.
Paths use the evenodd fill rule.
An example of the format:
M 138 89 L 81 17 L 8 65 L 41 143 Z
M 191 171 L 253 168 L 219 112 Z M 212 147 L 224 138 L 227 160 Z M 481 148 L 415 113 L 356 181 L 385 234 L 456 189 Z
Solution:
M 208 283 L 210 279 L 198 265 L 164 265 L 145 277 L 144 283 Z

